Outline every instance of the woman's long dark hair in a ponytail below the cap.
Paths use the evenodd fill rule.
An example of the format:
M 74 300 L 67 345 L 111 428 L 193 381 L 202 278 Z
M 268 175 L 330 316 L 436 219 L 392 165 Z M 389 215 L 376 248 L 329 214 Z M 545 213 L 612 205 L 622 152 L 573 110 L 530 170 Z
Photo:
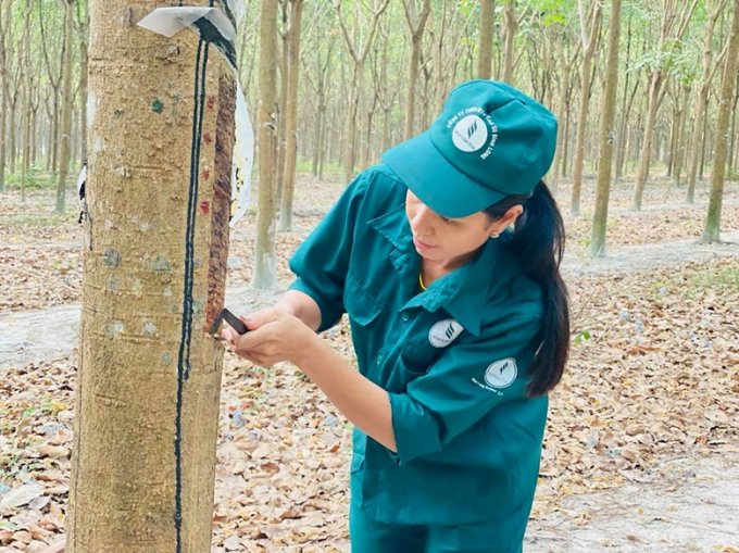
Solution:
M 527 277 L 543 290 L 544 314 L 541 345 L 526 369 L 533 377 L 527 393 L 542 395 L 562 378 L 569 353 L 569 306 L 567 287 L 560 275 L 564 254 L 564 223 L 549 188 L 540 180 L 530 194 L 503 198 L 485 213 L 493 221 L 501 218 L 514 205 L 523 205 L 516 219 L 512 248 L 525 263 Z

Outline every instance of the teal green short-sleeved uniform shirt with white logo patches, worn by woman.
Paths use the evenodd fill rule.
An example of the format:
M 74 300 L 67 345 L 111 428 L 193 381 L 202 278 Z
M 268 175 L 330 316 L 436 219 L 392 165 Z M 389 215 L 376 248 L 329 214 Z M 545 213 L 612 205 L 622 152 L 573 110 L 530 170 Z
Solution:
M 385 165 L 365 171 L 290 260 L 320 330 L 348 313 L 359 369 L 390 398 L 398 453 L 354 430 L 352 500 L 386 523 L 525 526 L 548 407 L 524 376 L 541 290 L 504 234 L 422 292 L 406 190 Z

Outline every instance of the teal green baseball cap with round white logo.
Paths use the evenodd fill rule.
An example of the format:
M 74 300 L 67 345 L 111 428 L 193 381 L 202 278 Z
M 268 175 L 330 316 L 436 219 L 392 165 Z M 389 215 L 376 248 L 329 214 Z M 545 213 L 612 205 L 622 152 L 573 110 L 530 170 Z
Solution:
M 430 128 L 383 154 L 418 199 L 444 217 L 466 217 L 547 174 L 556 117 L 505 83 L 471 80 L 451 91 Z

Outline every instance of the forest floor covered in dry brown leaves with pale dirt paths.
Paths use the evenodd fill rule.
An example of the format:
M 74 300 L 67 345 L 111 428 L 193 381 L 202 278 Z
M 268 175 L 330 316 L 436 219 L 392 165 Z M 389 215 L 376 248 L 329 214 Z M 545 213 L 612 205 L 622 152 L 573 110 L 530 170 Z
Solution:
M 575 345 L 525 550 L 739 553 L 739 185 L 727 183 L 722 224 L 735 243 L 716 246 L 697 243 L 705 183 L 687 205 L 655 178 L 639 213 L 632 184 L 616 186 L 609 255 L 590 260 L 593 185 L 565 215 Z M 300 175 L 280 286 L 342 188 Z M 64 532 L 82 291 L 74 192 L 67 202 L 53 215 L 49 190 L 0 196 L 0 553 L 38 553 Z M 227 304 L 240 313 L 278 297 L 248 288 L 254 223 L 231 238 Z M 325 339 L 353 360 L 346 322 Z M 345 419 L 295 367 L 227 355 L 212 551 L 348 551 L 349 448 Z

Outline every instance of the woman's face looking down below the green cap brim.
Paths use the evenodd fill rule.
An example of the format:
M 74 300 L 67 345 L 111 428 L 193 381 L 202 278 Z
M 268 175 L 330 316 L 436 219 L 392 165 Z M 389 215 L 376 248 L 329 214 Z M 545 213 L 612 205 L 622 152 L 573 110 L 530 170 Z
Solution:
M 511 211 L 515 213 L 509 215 Z M 418 254 L 428 261 L 451 262 L 454 265 L 455 261 L 468 261 L 491 234 L 501 232 L 521 211 L 521 205 L 511 208 L 499 221 L 490 221 L 481 211 L 466 217 L 448 218 L 431 211 L 410 189 L 405 197 L 405 214 Z

